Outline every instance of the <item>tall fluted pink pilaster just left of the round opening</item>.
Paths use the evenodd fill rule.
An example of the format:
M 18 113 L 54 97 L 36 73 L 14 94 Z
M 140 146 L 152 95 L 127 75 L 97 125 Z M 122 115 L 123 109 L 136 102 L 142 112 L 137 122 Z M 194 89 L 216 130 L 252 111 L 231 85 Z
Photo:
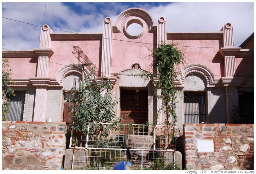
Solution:
M 109 17 L 103 22 L 101 72 L 107 77 L 111 76 L 112 25 Z

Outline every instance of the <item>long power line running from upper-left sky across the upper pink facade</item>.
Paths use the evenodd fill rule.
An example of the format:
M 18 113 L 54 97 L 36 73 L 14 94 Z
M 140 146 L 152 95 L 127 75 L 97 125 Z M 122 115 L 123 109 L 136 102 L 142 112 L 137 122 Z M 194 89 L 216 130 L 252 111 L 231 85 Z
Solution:
M 22 22 L 22 21 L 19 21 L 19 20 L 9 19 L 9 18 L 5 18 L 5 17 L 2 17 L 2 18 L 4 18 L 4 19 L 8 19 L 8 20 L 13 20 L 13 21 L 16 21 L 16 22 L 21 22 L 21 23 L 24 23 L 24 24 L 33 25 L 33 26 L 39 26 L 39 25 L 36 25 L 36 24 L 31 24 L 31 23 L 27 23 L 27 22 Z M 40 26 L 40 27 L 43 27 L 43 26 Z M 90 34 L 77 33 L 77 32 L 69 32 L 69 31 L 60 30 L 60 29 L 54 29 L 54 28 L 51 28 L 51 29 L 52 29 L 52 30 L 61 31 L 61 32 L 68 32 L 68 33 L 80 34 L 80 35 L 85 35 L 85 36 L 90 36 L 90 37 L 102 38 L 102 39 L 103 39 L 103 37 L 93 36 L 93 35 L 90 35 Z M 145 43 L 145 42 L 136 42 L 136 41 L 128 41 L 128 40 L 113 39 L 113 38 L 104 38 L 104 39 L 111 39 L 111 40 L 122 41 L 122 42 L 139 43 L 139 44 L 160 45 L 160 44 L 152 44 L 152 43 Z M 219 47 L 198 47 L 198 46 L 180 46 L 180 45 L 176 45 L 176 46 L 177 46 L 177 47 L 192 47 L 192 48 L 218 48 L 218 49 L 219 49 Z

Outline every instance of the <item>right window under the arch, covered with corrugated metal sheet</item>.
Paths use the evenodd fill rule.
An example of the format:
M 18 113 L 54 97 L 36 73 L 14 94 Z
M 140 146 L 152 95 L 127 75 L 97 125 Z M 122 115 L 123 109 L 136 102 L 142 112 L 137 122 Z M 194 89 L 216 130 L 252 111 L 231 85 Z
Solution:
M 184 92 L 184 123 L 207 122 L 204 92 Z

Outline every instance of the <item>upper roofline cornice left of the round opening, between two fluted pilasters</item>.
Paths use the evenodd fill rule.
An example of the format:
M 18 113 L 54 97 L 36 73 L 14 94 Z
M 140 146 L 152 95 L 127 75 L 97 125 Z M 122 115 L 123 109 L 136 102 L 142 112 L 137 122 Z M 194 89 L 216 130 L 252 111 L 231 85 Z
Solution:
M 102 40 L 102 33 L 50 33 L 51 40 Z

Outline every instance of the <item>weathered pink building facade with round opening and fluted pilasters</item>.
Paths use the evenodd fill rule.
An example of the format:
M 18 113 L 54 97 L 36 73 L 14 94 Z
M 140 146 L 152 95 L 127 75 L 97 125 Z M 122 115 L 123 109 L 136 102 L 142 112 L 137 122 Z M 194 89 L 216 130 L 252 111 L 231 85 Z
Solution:
M 150 124 L 161 102 L 153 95 L 152 81 L 142 75 L 153 72 L 153 58 L 146 57 L 152 53 L 149 49 L 173 41 L 186 55 L 182 77 L 176 83 L 180 91 L 177 128 L 182 129 L 184 123 L 233 123 L 234 106 L 254 101 L 254 50 L 234 47 L 230 23 L 217 32 L 166 32 L 166 22 L 160 17 L 155 23 L 147 11 L 131 8 L 116 21 L 105 18 L 102 33 L 56 33 L 44 25 L 39 48 L 2 52 L 7 53 L 15 81 L 12 87 L 17 95 L 12 108 L 19 110 L 9 115 L 9 120 L 65 121 L 67 98 L 63 91 L 70 92 L 89 71 L 85 66 L 83 73 L 73 54 L 73 46 L 79 46 L 110 79 L 113 97 L 120 99 L 117 116 L 129 111 L 126 122 Z M 142 27 L 137 35 L 127 30 L 133 23 Z M 241 99 L 240 94 L 245 97 Z M 244 123 L 254 122 L 250 109 L 252 115 L 244 115 Z M 161 124 L 164 115 L 157 121 Z

